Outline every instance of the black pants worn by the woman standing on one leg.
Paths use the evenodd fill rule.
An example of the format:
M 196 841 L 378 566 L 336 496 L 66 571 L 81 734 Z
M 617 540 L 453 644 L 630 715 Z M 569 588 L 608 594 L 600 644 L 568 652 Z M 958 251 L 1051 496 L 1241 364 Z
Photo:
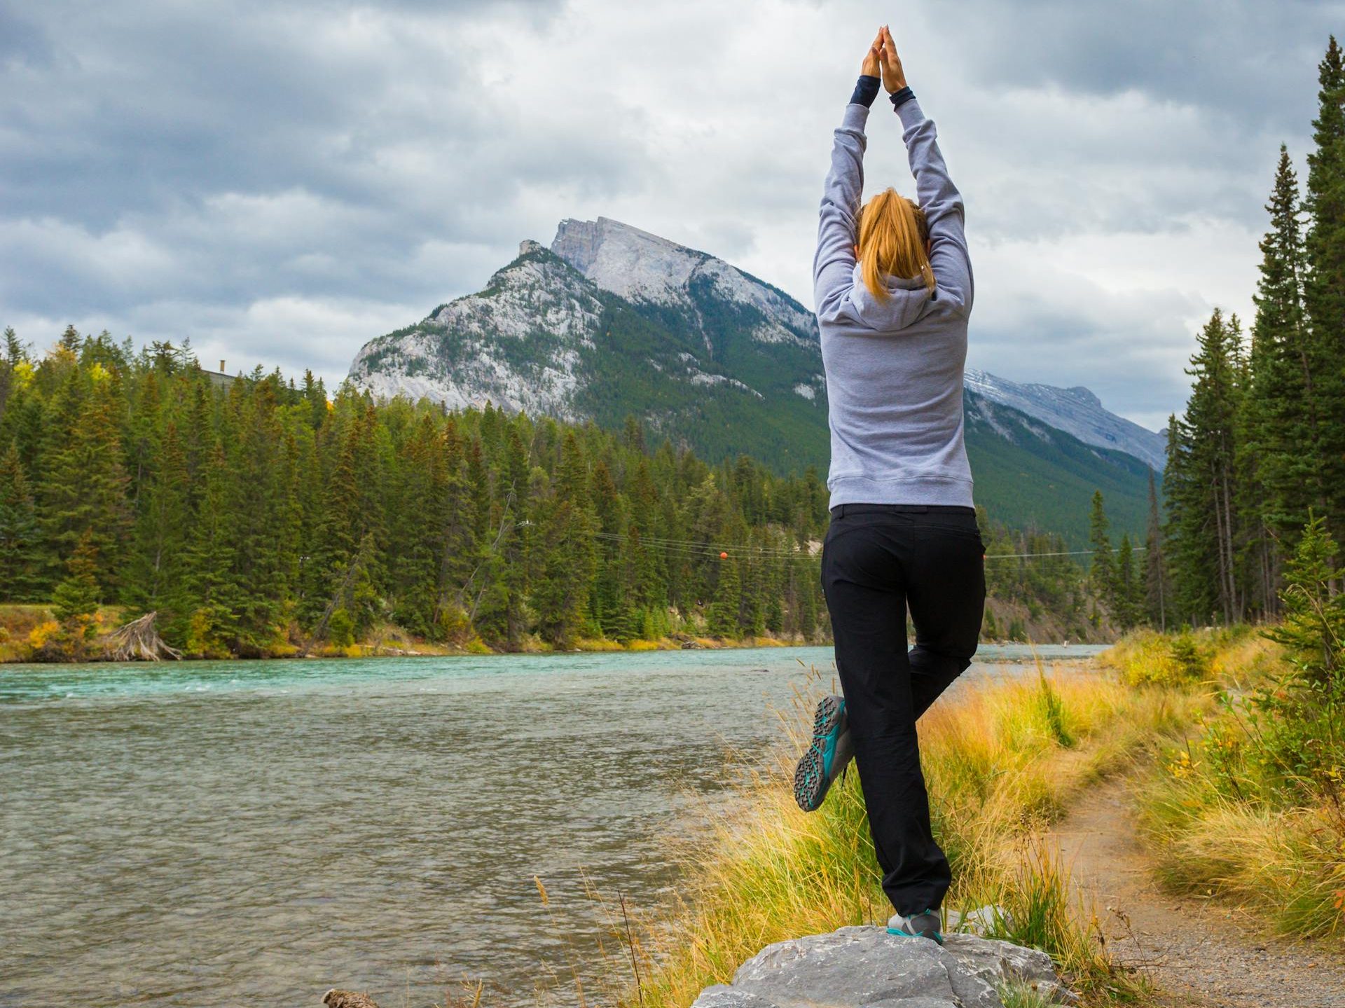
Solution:
M 916 719 L 976 651 L 986 600 L 976 515 L 861 503 L 831 514 L 822 589 L 882 890 L 898 914 L 937 910 L 952 875 L 929 828 Z

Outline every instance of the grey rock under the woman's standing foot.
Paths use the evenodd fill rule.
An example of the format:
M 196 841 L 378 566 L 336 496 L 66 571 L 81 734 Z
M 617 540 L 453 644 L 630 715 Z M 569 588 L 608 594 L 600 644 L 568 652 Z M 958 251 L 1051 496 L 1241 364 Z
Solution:
M 974 935 L 940 947 L 885 927 L 842 927 L 768 945 L 732 984 L 701 992 L 693 1008 L 1003 1008 L 1006 982 L 1072 1003 L 1050 958 Z

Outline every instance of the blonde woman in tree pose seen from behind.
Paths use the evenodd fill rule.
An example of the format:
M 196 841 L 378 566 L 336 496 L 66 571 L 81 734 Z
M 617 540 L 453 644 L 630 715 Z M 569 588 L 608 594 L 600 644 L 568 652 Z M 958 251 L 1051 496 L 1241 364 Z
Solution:
M 880 74 L 919 203 L 888 188 L 861 209 Z M 795 797 L 804 810 L 820 806 L 853 750 L 896 910 L 888 930 L 942 942 L 951 875 L 929 828 L 916 720 L 971 663 L 985 604 L 962 436 L 972 284 L 962 196 L 886 27 L 835 131 L 812 275 L 831 425 L 822 587 L 845 696 L 818 707 Z

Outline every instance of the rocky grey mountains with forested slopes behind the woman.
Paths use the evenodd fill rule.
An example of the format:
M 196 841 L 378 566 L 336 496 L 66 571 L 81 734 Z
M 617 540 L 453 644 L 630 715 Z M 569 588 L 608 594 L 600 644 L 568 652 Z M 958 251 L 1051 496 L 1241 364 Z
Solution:
M 562 221 L 549 249 L 525 241 L 484 289 L 366 343 L 350 378 L 449 408 L 490 400 L 603 427 L 633 413 L 710 460 L 745 452 L 824 472 L 830 454 L 812 312 L 722 260 L 604 217 Z M 1147 451 L 1127 424 L 1085 389 L 968 373 L 976 501 L 1083 540 L 1102 487 L 1118 530 L 1143 528 L 1147 460 L 1111 449 Z

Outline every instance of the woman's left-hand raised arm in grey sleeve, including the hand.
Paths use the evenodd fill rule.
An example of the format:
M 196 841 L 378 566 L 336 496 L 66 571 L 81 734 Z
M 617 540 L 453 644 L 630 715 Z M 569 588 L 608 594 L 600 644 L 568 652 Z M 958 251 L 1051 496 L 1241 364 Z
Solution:
M 831 170 L 822 187 L 818 217 L 818 252 L 812 257 L 812 303 L 823 312 L 845 296 L 854 276 L 855 221 L 863 191 L 863 125 L 869 106 L 878 94 L 880 46 L 882 32 L 863 57 L 859 81 L 845 106 L 841 127 L 831 143 Z

